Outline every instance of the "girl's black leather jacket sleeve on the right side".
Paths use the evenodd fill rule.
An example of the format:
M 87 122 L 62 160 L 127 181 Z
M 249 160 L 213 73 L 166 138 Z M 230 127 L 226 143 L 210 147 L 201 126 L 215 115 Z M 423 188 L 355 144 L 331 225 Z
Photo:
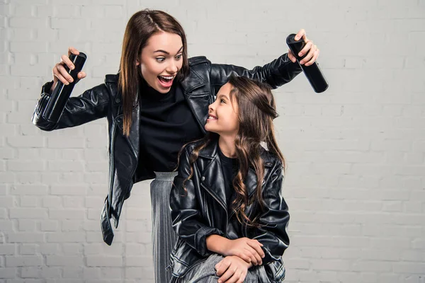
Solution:
M 263 187 L 263 212 L 259 217 L 260 228 L 255 228 L 255 238 L 263 244 L 266 256 L 263 265 L 279 260 L 289 246 L 289 237 L 286 231 L 289 222 L 288 205 L 281 196 L 283 170 L 281 163 L 272 169 L 268 182 Z

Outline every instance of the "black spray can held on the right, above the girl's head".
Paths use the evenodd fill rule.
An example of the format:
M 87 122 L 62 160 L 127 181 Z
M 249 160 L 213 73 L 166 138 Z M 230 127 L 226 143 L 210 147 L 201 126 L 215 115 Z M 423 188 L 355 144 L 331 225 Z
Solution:
M 298 64 L 300 64 L 300 61 L 307 55 L 306 53 L 302 57 L 298 56 L 298 53 L 300 53 L 302 48 L 305 47 L 304 40 L 302 40 L 302 38 L 298 41 L 295 40 L 295 33 L 292 33 L 286 37 L 286 44 L 288 44 L 290 51 L 293 52 L 295 58 L 297 58 Z M 329 85 L 326 79 L 324 79 L 322 71 L 320 70 L 319 65 L 317 65 L 317 62 L 314 62 L 310 66 L 300 64 L 300 67 L 305 76 L 307 76 L 307 79 L 310 81 L 310 84 L 312 85 L 315 92 L 322 93 L 327 90 Z

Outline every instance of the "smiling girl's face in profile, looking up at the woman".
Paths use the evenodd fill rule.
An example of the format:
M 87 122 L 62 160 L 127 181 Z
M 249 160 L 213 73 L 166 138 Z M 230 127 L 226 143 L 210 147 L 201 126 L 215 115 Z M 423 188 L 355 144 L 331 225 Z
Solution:
M 208 107 L 208 119 L 205 129 L 208 132 L 226 136 L 236 136 L 239 130 L 238 107 L 236 100 L 230 100 L 232 85 L 226 83 L 217 93 L 215 103 Z

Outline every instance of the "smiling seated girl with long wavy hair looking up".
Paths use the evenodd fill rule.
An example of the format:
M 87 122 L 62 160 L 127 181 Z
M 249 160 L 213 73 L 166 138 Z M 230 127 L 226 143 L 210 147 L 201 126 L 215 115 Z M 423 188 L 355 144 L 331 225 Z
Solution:
M 208 134 L 183 148 L 171 189 L 171 282 L 283 281 L 289 214 L 275 117 L 271 88 L 259 81 L 232 76 L 218 91 Z

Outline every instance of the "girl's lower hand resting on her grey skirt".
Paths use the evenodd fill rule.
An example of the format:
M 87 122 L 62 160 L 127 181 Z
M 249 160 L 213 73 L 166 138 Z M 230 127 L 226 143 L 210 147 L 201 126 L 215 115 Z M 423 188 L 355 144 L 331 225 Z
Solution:
M 252 265 L 237 256 L 227 256 L 215 265 L 218 283 L 242 283 Z

